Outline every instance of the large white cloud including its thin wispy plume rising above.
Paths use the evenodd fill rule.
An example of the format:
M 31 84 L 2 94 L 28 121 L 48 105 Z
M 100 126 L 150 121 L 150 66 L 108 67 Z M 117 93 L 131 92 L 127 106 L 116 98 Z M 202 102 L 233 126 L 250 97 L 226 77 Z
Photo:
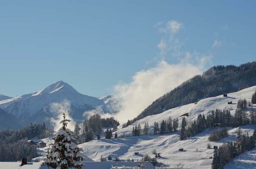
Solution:
M 130 83 L 122 83 L 114 87 L 121 109 L 114 115 L 121 123 L 139 115 L 157 98 L 170 92 L 182 82 L 201 74 L 206 63 L 213 57 L 210 54 L 189 52 L 182 49 L 183 41 L 175 35 L 183 28 L 183 24 L 171 20 L 155 25 L 161 33 L 157 47 L 160 50 L 159 63 L 147 70 L 136 72 Z M 209 46 L 211 47 L 211 46 Z M 165 58 L 178 60 L 177 64 L 169 64 Z

